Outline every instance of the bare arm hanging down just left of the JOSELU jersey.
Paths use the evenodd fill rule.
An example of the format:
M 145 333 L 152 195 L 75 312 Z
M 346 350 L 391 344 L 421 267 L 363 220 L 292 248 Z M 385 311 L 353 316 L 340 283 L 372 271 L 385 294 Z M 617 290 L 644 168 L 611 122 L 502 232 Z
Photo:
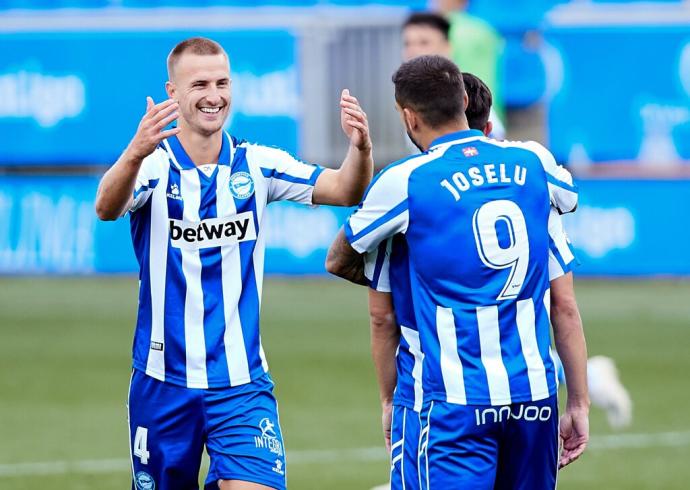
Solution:
M 381 422 L 386 448 L 390 451 L 393 392 L 398 380 L 395 353 L 400 344 L 400 330 L 396 324 L 390 293 L 369 289 L 369 323 L 371 356 L 374 360 L 381 400 Z

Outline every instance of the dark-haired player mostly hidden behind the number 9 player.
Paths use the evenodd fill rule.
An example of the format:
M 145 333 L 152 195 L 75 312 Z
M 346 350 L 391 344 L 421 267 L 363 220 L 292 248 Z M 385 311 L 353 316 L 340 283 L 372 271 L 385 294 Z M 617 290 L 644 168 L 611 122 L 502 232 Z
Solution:
M 491 133 L 491 91 L 471 73 L 462 74 L 470 129 Z M 549 280 L 572 270 L 575 256 L 558 212 L 549 215 Z M 365 257 L 369 281 L 372 355 L 382 404 L 386 447 L 391 452 L 390 486 L 375 490 L 419 488 L 417 451 L 422 406 L 424 353 L 412 308 L 407 245 L 402 235 L 388 238 Z

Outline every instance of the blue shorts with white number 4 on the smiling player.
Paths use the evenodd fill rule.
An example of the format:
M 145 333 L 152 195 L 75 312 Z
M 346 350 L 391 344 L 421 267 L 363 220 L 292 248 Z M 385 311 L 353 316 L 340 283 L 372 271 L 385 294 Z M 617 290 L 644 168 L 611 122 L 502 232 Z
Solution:
M 205 488 L 218 480 L 243 480 L 286 488 L 285 450 L 265 374 L 244 385 L 192 389 L 163 383 L 134 370 L 129 390 L 133 490 L 198 489 L 206 446 Z

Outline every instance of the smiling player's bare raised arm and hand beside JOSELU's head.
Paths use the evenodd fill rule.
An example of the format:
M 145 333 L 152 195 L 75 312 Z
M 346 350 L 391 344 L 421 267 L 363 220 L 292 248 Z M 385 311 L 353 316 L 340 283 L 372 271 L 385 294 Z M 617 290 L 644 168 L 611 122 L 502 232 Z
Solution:
M 350 146 L 338 170 L 326 169 L 319 175 L 314 187 L 314 204 L 354 206 L 371 182 L 374 161 L 367 115 L 347 89 L 340 97 L 340 123 Z

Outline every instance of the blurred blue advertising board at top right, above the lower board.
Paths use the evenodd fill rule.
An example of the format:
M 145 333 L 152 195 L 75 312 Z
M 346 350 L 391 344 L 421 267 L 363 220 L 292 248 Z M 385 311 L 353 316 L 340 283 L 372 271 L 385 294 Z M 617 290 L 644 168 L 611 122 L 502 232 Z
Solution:
M 690 24 L 546 29 L 559 161 L 690 160 Z

